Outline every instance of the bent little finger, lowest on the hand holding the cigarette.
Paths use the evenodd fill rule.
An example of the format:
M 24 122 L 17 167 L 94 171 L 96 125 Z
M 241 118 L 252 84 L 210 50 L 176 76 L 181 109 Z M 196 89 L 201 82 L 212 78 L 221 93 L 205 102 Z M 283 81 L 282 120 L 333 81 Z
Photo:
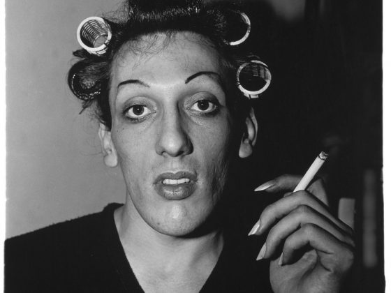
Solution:
M 286 239 L 280 263 L 292 263 L 306 246 L 316 250 L 320 263 L 328 271 L 346 271 L 353 264 L 353 248 L 313 224 L 304 225 Z

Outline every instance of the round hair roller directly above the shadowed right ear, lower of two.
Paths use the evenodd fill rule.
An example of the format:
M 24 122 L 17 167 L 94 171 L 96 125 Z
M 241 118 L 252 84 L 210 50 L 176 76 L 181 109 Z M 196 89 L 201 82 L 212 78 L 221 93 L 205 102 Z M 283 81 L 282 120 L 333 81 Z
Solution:
M 247 98 L 259 98 L 272 81 L 272 74 L 267 65 L 257 59 L 243 63 L 237 69 L 237 86 Z

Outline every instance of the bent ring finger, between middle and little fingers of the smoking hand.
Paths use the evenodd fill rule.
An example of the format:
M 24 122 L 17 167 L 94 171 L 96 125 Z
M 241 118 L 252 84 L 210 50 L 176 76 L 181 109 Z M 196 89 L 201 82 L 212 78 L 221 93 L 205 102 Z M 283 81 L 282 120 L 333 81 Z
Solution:
M 339 241 L 346 243 L 349 246 L 354 247 L 355 245 L 351 236 L 332 223 L 329 218 L 326 218 L 322 214 L 318 213 L 310 206 L 301 205 L 279 220 L 279 222 L 272 227 L 269 234 L 267 234 L 267 239 L 265 241 L 265 253 L 263 257 L 272 257 L 290 234 L 293 234 L 296 230 L 299 230 L 307 224 L 322 227 L 323 230 L 327 231 Z

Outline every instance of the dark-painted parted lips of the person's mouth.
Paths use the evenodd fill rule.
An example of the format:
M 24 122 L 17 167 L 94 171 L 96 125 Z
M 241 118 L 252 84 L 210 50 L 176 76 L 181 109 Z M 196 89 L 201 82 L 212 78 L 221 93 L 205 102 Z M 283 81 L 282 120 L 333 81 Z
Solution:
M 163 184 L 164 179 L 178 180 L 182 178 L 190 179 L 190 181 L 188 183 L 179 183 L 175 185 Z M 166 200 L 184 200 L 194 192 L 196 182 L 197 175 L 192 172 L 165 172 L 156 177 L 154 188 L 156 193 Z

